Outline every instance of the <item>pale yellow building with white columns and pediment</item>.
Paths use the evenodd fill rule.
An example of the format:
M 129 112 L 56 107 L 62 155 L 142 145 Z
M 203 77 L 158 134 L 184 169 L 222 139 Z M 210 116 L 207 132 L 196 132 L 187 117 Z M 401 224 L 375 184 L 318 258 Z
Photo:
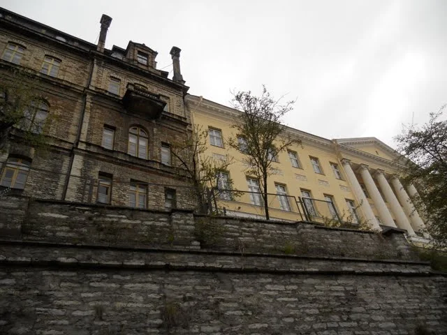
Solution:
M 186 96 L 186 107 L 193 124 L 208 129 L 207 154 L 234 158 L 221 184 L 232 179 L 242 195 L 222 193 L 219 207 L 230 216 L 264 218 L 261 195 L 256 193 L 259 183 L 247 175 L 244 154 L 226 145 L 229 138 L 242 135 L 232 128 L 240 112 L 191 95 Z M 401 228 L 415 240 L 423 236 L 425 224 L 410 199 L 416 188 L 406 190 L 400 183 L 397 173 L 404 166 L 396 163 L 399 154 L 394 149 L 375 137 L 328 140 L 294 128 L 287 132 L 302 144 L 280 152 L 273 163 L 274 174 L 268 179 L 272 220 L 327 223 L 349 218 L 376 230 Z

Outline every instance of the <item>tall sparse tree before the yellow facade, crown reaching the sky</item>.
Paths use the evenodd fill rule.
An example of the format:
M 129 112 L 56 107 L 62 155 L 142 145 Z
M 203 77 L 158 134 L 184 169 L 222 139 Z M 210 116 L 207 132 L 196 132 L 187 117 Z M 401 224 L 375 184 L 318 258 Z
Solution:
M 245 154 L 247 173 L 258 179 L 267 220 L 270 219 L 267 181 L 275 172 L 272 163 L 281 151 L 286 151 L 293 144 L 301 144 L 298 138 L 286 132 L 286 126 L 281 123 L 295 101 L 282 103 L 282 100 L 283 97 L 274 99 L 265 86 L 261 96 L 255 96 L 251 91 L 233 94 L 233 107 L 241 112 L 233 124 L 239 138 L 228 140 L 228 144 Z

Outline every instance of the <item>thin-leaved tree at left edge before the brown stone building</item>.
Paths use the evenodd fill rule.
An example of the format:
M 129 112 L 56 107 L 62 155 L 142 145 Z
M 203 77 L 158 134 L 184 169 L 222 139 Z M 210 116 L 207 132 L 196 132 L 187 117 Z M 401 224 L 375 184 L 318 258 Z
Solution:
M 24 70 L 2 73 L 0 82 L 0 151 L 16 130 L 20 140 L 32 147 L 45 145 L 43 133 L 48 124 L 44 99 L 38 90 L 38 80 Z

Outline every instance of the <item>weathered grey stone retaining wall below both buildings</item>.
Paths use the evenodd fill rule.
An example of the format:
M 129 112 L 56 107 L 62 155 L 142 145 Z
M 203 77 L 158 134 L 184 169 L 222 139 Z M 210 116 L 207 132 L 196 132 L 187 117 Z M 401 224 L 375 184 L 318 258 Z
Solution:
M 397 230 L 3 196 L 0 233 L 0 334 L 447 334 Z

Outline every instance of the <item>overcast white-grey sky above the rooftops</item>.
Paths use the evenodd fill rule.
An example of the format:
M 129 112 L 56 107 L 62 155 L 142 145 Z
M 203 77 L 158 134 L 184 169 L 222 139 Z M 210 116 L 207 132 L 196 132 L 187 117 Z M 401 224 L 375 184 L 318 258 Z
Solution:
M 65 1 L 1 6 L 106 47 L 129 40 L 172 70 L 182 49 L 189 93 L 229 105 L 230 91 L 297 98 L 284 121 L 326 138 L 375 136 L 393 145 L 402 124 L 447 103 L 447 0 Z M 172 72 L 170 73 L 172 77 Z

